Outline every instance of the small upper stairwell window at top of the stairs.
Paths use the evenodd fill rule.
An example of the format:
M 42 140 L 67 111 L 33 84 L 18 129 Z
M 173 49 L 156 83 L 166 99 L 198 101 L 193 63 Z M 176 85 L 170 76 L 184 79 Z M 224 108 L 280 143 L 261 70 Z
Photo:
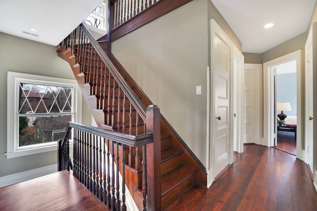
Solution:
M 101 3 L 93 12 L 84 20 L 89 29 L 100 32 L 107 30 L 107 3 Z M 96 30 L 97 29 L 97 30 Z M 99 29 L 99 30 L 98 30 Z

